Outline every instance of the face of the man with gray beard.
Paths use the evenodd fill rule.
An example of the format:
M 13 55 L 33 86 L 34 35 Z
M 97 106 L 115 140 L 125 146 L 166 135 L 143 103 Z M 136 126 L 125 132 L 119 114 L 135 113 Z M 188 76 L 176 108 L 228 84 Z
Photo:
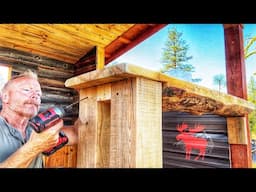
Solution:
M 41 104 L 42 91 L 37 80 L 23 77 L 16 79 L 8 88 L 6 105 L 21 116 L 35 116 Z

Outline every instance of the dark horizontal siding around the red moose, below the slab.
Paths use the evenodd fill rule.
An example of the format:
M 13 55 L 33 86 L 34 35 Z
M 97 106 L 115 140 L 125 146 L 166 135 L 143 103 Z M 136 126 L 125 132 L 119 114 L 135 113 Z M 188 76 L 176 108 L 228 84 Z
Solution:
M 164 168 L 229 168 L 229 144 L 226 118 L 218 115 L 191 115 L 182 112 L 163 113 L 163 167 Z M 190 159 L 186 159 L 185 143 L 176 139 L 181 132 L 177 125 L 185 123 L 188 128 L 202 125 L 204 129 L 193 133 L 196 138 L 207 141 L 204 158 L 195 158 L 198 149 L 192 149 Z M 188 130 L 188 129 L 187 129 Z M 186 133 L 188 131 L 186 130 Z M 184 130 L 185 131 L 185 130 Z M 196 139 L 192 142 L 196 144 Z

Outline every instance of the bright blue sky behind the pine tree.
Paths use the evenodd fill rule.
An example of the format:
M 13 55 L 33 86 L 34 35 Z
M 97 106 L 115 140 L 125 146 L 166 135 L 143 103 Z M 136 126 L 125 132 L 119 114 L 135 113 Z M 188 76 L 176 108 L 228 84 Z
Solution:
M 193 78 L 201 78 L 198 84 L 217 89 L 213 76 L 226 74 L 224 29 L 222 24 L 171 24 L 143 41 L 113 62 L 126 62 L 158 71 L 161 55 L 167 40 L 168 30 L 173 26 L 182 32 L 182 38 L 189 45 L 188 61 L 195 67 Z M 256 36 L 256 24 L 244 24 L 244 37 Z M 244 39 L 245 40 L 245 39 Z M 256 72 L 256 55 L 246 60 L 247 80 Z

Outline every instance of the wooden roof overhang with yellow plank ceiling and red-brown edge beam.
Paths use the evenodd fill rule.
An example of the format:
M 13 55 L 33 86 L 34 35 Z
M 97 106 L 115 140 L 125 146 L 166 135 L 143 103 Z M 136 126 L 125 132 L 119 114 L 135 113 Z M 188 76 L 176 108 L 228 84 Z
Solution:
M 97 48 L 104 64 L 167 24 L 0 24 L 0 47 L 75 65 L 75 75 L 96 69 Z

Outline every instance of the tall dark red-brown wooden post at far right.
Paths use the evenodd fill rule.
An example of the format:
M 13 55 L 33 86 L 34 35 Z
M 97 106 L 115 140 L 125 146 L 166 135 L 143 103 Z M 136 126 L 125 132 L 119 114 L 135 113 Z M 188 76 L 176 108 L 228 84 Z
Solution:
M 241 24 L 225 24 L 224 35 L 228 93 L 247 100 L 243 26 Z M 233 168 L 252 167 L 250 128 L 247 115 L 245 117 L 248 143 L 231 144 Z

